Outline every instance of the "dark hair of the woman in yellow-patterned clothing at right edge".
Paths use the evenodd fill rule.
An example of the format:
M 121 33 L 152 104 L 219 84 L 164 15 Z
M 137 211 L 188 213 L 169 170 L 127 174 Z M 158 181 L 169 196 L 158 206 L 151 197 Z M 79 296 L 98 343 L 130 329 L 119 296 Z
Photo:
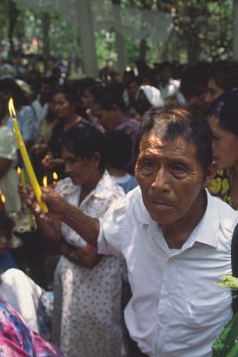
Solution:
M 211 103 L 208 115 L 217 118 L 221 128 L 238 136 L 238 89 L 219 95 Z

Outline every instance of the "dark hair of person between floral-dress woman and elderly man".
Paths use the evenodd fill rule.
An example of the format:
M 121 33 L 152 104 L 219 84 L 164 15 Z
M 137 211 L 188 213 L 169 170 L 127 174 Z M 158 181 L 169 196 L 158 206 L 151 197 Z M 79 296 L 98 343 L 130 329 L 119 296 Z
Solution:
M 127 133 L 117 129 L 109 130 L 105 135 L 107 141 L 107 163 L 111 167 L 121 170 L 132 157 L 132 139 Z

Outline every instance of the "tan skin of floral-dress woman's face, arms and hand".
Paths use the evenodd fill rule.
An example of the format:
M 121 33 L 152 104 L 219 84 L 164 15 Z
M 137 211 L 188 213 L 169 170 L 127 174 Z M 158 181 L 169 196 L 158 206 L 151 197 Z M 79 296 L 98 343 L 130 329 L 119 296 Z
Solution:
M 66 147 L 62 147 L 62 159 L 65 162 L 65 172 L 72 180 L 72 183 L 74 185 L 82 185 L 79 204 L 94 189 L 103 176 L 103 173 L 99 170 L 100 154 L 94 153 L 91 159 L 86 159 L 76 156 Z M 101 261 L 102 255 L 97 254 L 94 246 L 86 245 L 85 248 L 75 248 L 63 239 L 61 220 L 44 220 L 34 211 L 36 202 L 30 187 L 27 188 L 27 192 L 21 189 L 20 193 L 23 202 L 28 204 L 32 212 L 36 214 L 38 227 L 44 236 L 53 242 L 60 243 L 61 253 L 71 262 L 93 269 Z

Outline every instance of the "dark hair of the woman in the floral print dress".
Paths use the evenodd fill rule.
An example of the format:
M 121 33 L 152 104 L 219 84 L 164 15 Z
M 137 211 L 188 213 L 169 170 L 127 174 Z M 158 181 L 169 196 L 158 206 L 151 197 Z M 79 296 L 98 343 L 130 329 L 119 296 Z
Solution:
M 62 145 L 76 156 L 91 159 L 94 153 L 101 156 L 99 170 L 105 169 L 106 144 L 104 135 L 86 121 L 80 121 L 65 132 Z

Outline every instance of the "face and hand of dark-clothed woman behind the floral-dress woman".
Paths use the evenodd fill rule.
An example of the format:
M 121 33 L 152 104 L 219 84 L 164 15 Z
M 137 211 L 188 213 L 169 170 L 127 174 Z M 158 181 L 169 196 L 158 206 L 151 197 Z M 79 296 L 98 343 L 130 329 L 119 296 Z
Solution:
M 76 104 L 70 103 L 63 93 L 58 93 L 53 98 L 54 110 L 59 120 L 65 120 L 63 131 L 66 132 L 82 118 L 75 112 Z M 63 164 L 62 158 L 53 158 L 53 154 L 48 152 L 42 160 L 42 164 L 47 169 L 53 169 Z

